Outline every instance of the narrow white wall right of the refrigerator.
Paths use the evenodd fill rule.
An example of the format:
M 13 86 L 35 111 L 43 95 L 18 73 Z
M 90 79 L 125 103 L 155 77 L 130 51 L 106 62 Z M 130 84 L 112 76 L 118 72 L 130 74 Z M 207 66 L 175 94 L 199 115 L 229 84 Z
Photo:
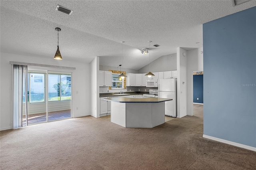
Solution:
M 185 56 L 184 56 L 185 55 Z M 177 48 L 177 117 L 187 115 L 187 51 Z

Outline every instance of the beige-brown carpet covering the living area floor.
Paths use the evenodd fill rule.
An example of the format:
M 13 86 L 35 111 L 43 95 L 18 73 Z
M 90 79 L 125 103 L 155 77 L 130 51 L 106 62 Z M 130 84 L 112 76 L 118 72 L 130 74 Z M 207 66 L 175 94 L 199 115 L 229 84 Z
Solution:
M 248 170 L 256 152 L 202 138 L 193 117 L 155 128 L 124 128 L 91 116 L 0 132 L 1 170 Z

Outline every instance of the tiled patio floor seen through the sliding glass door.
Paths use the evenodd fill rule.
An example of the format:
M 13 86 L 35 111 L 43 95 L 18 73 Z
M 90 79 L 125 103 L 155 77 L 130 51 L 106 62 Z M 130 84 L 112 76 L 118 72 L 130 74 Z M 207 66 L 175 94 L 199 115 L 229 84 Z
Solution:
M 71 110 L 56 111 L 48 113 L 48 122 L 71 118 Z M 46 122 L 46 113 L 28 115 L 28 125 Z M 23 124 L 26 124 L 26 117 L 23 116 Z

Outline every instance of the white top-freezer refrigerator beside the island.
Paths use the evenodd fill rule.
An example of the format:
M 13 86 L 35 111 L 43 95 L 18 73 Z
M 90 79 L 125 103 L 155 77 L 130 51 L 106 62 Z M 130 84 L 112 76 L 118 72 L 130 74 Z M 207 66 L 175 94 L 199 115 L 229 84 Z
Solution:
M 177 117 L 177 79 L 159 79 L 158 96 L 172 99 L 165 102 L 166 116 Z

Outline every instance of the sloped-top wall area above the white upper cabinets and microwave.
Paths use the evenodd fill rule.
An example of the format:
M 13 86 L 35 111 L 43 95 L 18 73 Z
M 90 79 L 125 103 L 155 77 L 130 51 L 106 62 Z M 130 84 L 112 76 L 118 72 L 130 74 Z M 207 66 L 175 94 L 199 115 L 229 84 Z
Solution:
M 177 54 L 163 55 L 150 62 L 150 72 L 177 70 Z M 140 68 L 138 73 L 148 73 L 149 64 Z

